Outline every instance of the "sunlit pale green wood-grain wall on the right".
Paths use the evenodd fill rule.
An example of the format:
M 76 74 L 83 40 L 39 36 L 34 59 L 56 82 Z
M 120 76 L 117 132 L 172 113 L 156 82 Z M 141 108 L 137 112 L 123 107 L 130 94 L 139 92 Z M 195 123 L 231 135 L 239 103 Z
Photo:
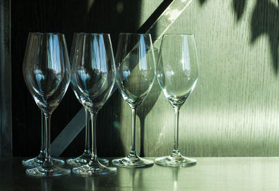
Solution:
M 167 31 L 194 33 L 199 56 L 197 86 L 180 112 L 179 148 L 183 155 L 279 153 L 279 80 L 274 67 L 278 63 L 273 63 L 269 41 L 269 33 L 274 31 L 257 31 L 269 24 L 276 30 L 278 2 L 266 1 L 262 12 L 257 12 L 259 1 L 247 1 L 239 20 L 232 3 L 207 0 L 201 5 L 193 1 Z M 263 13 L 273 14 L 273 20 L 262 17 Z M 261 22 L 252 23 L 252 17 L 261 17 Z M 260 34 L 254 42 L 252 33 Z M 172 151 L 174 116 L 163 97 L 161 93 L 145 118 L 146 155 Z

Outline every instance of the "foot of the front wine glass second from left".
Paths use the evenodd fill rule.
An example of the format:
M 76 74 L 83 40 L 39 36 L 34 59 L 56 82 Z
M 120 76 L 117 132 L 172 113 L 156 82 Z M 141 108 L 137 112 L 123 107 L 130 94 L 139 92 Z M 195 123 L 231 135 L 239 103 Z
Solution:
M 105 167 L 105 165 L 100 164 L 98 160 L 91 160 L 89 164 L 82 167 L 75 167 L 72 171 L 82 176 L 100 176 L 114 174 L 117 169 L 115 167 Z

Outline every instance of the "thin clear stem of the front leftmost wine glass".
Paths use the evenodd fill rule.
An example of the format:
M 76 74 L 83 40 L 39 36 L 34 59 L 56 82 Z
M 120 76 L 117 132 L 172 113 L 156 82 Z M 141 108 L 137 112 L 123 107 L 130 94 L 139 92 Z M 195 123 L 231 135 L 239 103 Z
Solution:
M 45 167 L 53 165 L 52 158 L 50 157 L 50 119 L 51 114 L 45 114 L 45 162 L 43 162 Z

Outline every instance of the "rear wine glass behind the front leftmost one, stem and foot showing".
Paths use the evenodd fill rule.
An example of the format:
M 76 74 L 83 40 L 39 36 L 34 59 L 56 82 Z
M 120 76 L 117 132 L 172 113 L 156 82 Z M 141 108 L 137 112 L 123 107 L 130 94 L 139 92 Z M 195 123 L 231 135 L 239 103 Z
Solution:
M 45 130 L 43 128 L 44 125 L 44 114 L 42 111 L 40 111 L 40 121 L 41 121 L 41 144 L 40 144 L 40 153 L 38 156 L 34 158 L 27 158 L 22 160 L 22 165 L 25 167 L 38 167 L 39 165 L 42 165 L 42 163 L 45 161 Z M 65 162 L 62 159 L 58 158 L 52 158 L 52 161 L 54 165 L 64 165 Z

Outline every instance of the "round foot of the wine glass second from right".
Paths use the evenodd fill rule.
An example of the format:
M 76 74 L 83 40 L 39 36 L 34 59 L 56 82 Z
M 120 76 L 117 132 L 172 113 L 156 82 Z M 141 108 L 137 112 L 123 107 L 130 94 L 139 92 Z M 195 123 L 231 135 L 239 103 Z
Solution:
M 153 164 L 154 162 L 152 160 L 146 160 L 138 156 L 135 158 L 126 157 L 112 160 L 112 165 L 128 168 L 151 167 Z

